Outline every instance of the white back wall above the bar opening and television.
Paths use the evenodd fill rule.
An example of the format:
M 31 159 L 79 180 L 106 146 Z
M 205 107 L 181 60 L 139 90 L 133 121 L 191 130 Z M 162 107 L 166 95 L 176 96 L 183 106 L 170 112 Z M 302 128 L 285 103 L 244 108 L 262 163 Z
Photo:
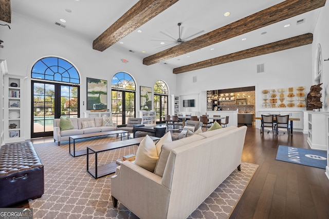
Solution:
M 312 85 L 312 45 L 270 53 L 177 75 L 180 95 L 199 96 L 197 111 L 206 112 L 206 90 L 255 86 L 256 111 L 262 110 L 261 91 Z M 264 64 L 264 73 L 257 73 L 257 65 Z M 197 82 L 192 83 L 193 76 Z M 197 94 L 195 94 L 197 93 Z M 289 110 L 297 108 L 289 108 Z M 298 109 L 300 110 L 300 109 Z

